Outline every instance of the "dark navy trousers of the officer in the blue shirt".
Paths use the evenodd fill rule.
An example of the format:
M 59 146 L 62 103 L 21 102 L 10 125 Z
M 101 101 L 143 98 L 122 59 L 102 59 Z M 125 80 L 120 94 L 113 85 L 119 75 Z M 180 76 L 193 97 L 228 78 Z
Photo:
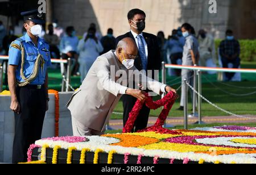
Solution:
M 41 139 L 44 115 L 46 114 L 46 90 L 36 86 L 17 87 L 16 95 L 21 107 L 15 113 L 15 136 L 13 142 L 13 163 L 27 161 L 27 150 Z

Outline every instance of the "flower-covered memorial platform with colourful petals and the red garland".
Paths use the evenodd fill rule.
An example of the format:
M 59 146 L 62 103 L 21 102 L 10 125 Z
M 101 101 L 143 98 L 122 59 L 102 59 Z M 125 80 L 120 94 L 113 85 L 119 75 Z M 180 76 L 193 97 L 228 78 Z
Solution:
M 36 141 L 28 163 L 48 164 L 255 164 L 256 128 L 224 126 L 167 130 L 163 123 L 176 96 L 146 100 L 150 109 L 163 107 L 155 125 L 131 133 L 143 102 L 137 101 L 122 134 L 55 137 Z M 38 161 L 39 160 L 39 161 Z

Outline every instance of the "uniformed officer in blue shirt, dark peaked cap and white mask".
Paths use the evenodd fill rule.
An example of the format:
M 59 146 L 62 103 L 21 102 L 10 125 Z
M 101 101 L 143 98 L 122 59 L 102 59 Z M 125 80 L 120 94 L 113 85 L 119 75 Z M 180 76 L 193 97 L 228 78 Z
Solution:
M 44 115 L 48 110 L 49 45 L 38 36 L 44 23 L 38 10 L 22 12 L 26 35 L 11 43 L 8 83 L 11 110 L 15 114 L 13 163 L 27 161 L 30 144 L 41 138 Z

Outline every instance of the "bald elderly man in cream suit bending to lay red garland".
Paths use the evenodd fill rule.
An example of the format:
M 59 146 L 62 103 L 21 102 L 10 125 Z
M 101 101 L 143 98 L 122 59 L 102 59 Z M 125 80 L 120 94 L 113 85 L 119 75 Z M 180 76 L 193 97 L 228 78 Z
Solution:
M 176 93 L 170 86 L 139 73 L 134 67 L 137 54 L 134 40 L 125 38 L 119 41 L 115 51 L 99 56 L 93 63 L 82 85 L 67 104 L 72 115 L 74 136 L 103 134 L 123 94 L 132 95 L 141 101 L 147 98 L 144 91 L 127 87 L 129 81 L 146 85 L 147 89 L 159 95 L 169 91 Z M 141 78 L 134 79 L 137 74 Z

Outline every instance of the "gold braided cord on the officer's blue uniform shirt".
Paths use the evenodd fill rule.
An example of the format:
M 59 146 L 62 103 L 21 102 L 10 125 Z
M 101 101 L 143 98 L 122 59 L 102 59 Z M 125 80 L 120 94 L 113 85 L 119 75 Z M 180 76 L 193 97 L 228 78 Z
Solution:
M 25 48 L 24 48 L 24 45 L 22 43 L 20 43 L 20 48 L 21 48 L 21 57 L 22 57 L 22 63 L 21 63 L 21 68 L 20 68 L 20 76 L 22 77 L 24 82 L 18 82 L 17 81 L 17 85 L 19 87 L 23 87 L 23 86 L 26 86 L 26 85 L 30 84 L 32 81 L 35 80 L 35 78 L 38 76 L 40 65 L 43 67 L 44 59 L 43 59 L 43 55 L 41 55 L 41 54 L 39 54 L 38 57 L 36 57 L 36 61 L 35 61 L 33 71 L 30 74 L 30 76 L 28 76 L 26 78 L 24 76 Z

